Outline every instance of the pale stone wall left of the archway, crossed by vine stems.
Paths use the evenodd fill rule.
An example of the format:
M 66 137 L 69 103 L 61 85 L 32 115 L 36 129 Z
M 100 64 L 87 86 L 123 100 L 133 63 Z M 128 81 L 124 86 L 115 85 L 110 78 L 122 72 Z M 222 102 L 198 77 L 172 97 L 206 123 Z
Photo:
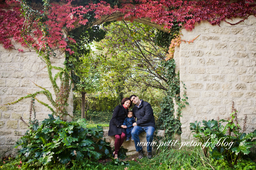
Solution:
M 17 46 L 16 44 L 15 47 L 18 48 Z M 60 67 L 63 67 L 63 61 L 64 57 L 60 54 L 52 60 L 53 65 Z M 56 73 L 57 70 L 53 70 L 53 76 Z M 36 53 L 18 52 L 0 46 L 0 104 L 13 102 L 27 94 L 42 90 L 33 82 L 54 94 L 45 63 Z M 59 85 L 60 81 L 57 84 Z M 37 98 L 50 104 L 44 95 L 38 95 Z M 53 98 L 55 100 L 55 95 Z M 31 99 L 24 99 L 13 105 L 0 105 L 0 157 L 15 153 L 12 146 L 27 131 L 27 126 L 20 120 L 20 116 L 28 122 L 30 101 Z M 72 95 L 70 95 L 69 104 L 67 109 L 69 114 L 72 114 Z M 34 105 L 36 118 L 39 121 L 48 118 L 48 114 L 51 114 L 50 109 L 37 101 Z

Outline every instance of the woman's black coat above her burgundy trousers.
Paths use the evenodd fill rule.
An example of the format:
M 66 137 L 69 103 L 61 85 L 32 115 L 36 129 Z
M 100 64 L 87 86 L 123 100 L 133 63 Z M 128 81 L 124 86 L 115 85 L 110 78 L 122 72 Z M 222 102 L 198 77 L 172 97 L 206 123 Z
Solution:
M 109 136 L 120 135 L 125 133 L 125 129 L 121 128 L 126 118 L 128 109 L 125 109 L 122 105 L 117 105 L 114 109 L 113 116 L 109 122 Z

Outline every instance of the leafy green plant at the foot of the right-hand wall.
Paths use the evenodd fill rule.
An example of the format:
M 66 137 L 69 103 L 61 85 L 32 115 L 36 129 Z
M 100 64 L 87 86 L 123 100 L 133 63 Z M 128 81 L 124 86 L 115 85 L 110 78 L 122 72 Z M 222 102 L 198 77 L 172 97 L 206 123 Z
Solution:
M 209 152 L 212 158 L 225 159 L 231 165 L 250 154 L 250 149 L 256 144 L 256 130 L 247 134 L 239 132 L 240 125 L 234 123 L 237 119 L 236 112 L 230 114 L 229 120 L 203 120 L 203 126 L 197 121 L 190 123 L 190 130 L 195 132 L 193 136 L 203 143 L 205 151 Z M 223 122 L 226 125 L 222 125 Z M 228 131 L 232 134 L 227 134 Z

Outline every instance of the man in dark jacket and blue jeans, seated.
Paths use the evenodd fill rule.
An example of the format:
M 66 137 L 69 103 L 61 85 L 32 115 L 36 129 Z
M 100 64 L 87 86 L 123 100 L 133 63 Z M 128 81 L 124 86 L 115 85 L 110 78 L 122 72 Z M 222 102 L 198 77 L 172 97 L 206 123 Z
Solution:
M 135 104 L 132 111 L 137 118 L 137 122 L 132 124 L 131 135 L 134 139 L 136 151 L 139 152 L 139 159 L 143 157 L 142 146 L 138 146 L 138 143 L 140 143 L 139 134 L 142 132 L 147 134 L 146 139 L 147 144 L 149 144 L 147 145 L 147 157 L 152 158 L 152 142 L 156 129 L 153 109 L 148 102 L 140 100 L 136 95 L 131 95 L 130 100 Z

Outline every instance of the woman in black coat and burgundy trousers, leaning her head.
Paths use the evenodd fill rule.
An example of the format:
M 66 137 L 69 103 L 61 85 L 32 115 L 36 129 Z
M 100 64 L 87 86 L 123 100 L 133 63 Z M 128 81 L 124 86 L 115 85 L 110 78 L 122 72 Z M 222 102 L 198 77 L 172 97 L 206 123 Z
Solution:
M 114 159 L 117 159 L 117 153 L 125 140 L 125 128 L 123 125 L 126 118 L 128 108 L 131 107 L 131 100 L 126 97 L 122 100 L 121 105 L 117 105 L 114 109 L 113 116 L 109 122 L 109 136 L 115 135 L 115 155 Z

